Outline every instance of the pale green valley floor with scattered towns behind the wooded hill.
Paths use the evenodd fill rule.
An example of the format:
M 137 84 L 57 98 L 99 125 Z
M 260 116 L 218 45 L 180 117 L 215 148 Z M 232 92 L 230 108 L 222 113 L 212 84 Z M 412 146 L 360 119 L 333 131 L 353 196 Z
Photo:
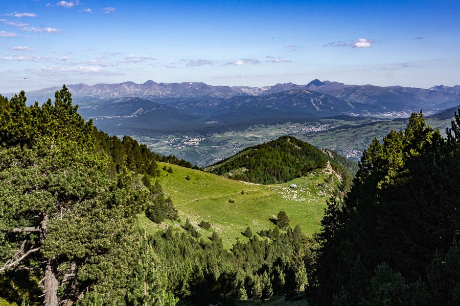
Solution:
M 446 120 L 427 118 L 427 124 L 439 128 L 444 134 Z M 328 148 L 338 154 L 358 161 L 362 151 L 369 146 L 374 137 L 382 138 L 390 130 L 403 130 L 408 119 L 384 120 L 365 118 L 356 121 L 339 119 L 315 119 L 308 122 L 288 122 L 284 124 L 258 124 L 241 131 L 227 131 L 214 134 L 163 134 L 152 136 L 147 131 L 133 131 L 130 136 L 137 139 L 154 152 L 162 155 L 175 155 L 198 166 L 214 164 L 235 155 L 244 148 L 292 135 L 311 143 L 318 148 Z

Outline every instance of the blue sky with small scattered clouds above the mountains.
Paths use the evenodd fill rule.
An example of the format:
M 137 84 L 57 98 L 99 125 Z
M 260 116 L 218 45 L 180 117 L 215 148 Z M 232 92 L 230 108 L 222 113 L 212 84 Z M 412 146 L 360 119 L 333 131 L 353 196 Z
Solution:
M 133 81 L 460 84 L 458 1 L 0 2 L 0 92 Z

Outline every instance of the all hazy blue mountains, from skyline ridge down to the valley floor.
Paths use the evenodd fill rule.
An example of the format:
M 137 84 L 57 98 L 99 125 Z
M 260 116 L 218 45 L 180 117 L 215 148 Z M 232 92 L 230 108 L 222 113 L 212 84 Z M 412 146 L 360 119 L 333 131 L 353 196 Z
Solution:
M 460 104 L 458 85 L 422 89 L 313 80 L 306 85 L 261 88 L 153 81 L 67 87 L 85 119 L 93 118 L 108 133 L 121 134 L 126 129 L 146 131 L 143 134 L 218 131 L 339 115 L 408 117 L 420 109 L 434 113 Z M 26 95 L 32 104 L 52 98 L 59 89 L 44 88 Z

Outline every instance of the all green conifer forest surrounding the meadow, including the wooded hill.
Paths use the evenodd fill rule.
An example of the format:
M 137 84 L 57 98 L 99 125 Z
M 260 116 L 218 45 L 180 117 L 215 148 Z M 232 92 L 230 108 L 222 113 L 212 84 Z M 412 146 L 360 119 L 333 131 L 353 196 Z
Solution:
M 318 306 L 460 303 L 457 113 L 447 138 L 420 112 L 404 131 L 374 139 L 313 237 L 292 230 L 281 210 L 279 226 L 248 227 L 249 240 L 226 249 L 216 232 L 201 237 L 190 222 L 183 231 L 141 230 L 142 212 L 156 223 L 177 218 L 152 183 L 160 157 L 97 131 L 65 86 L 54 103 L 25 102 L 24 92 L 0 96 L 2 305 L 231 305 L 273 296 Z M 269 183 L 329 161 L 347 174 L 292 137 L 247 156 L 217 169 L 247 167 L 247 179 Z

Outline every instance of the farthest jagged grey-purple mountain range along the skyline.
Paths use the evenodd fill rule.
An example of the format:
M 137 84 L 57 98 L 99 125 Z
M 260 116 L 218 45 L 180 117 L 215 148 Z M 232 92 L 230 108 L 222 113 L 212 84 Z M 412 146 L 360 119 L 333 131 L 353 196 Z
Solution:
M 338 82 L 313 80 L 306 85 L 293 83 L 265 87 L 212 86 L 204 83 L 124 82 L 119 84 L 67 85 L 75 101 L 115 99 L 121 97 L 152 98 L 231 98 L 235 96 L 269 96 L 274 93 L 307 90 L 316 91 L 350 103 L 373 105 L 386 111 L 418 108 L 445 109 L 460 102 L 460 85 L 433 86 L 429 89 L 402 86 L 346 85 Z M 54 96 L 60 87 L 49 87 L 27 92 L 29 100 L 44 101 Z M 8 96 L 8 95 L 7 95 Z

